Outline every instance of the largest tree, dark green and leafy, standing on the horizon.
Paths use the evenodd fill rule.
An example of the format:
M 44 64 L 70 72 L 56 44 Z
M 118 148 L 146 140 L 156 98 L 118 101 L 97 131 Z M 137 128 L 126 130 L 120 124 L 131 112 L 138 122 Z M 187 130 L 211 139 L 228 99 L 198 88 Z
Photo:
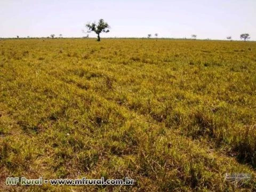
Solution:
M 108 25 L 107 22 L 105 22 L 103 19 L 100 19 L 98 24 L 93 22 L 93 23 L 87 23 L 85 27 L 88 29 L 87 33 L 91 33 L 91 31 L 94 31 L 95 34 L 98 35 L 97 41 L 100 41 L 100 33 L 108 33 L 110 26 Z

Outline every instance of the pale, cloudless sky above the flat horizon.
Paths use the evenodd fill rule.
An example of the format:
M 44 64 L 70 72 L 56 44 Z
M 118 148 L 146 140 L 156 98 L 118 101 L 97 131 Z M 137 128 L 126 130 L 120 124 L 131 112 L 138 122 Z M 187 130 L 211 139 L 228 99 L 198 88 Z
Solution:
M 256 41 L 256 0 L 0 0 L 0 16 L 0 37 L 82 37 L 86 23 L 102 18 L 111 28 L 101 37 L 239 39 L 249 33 Z

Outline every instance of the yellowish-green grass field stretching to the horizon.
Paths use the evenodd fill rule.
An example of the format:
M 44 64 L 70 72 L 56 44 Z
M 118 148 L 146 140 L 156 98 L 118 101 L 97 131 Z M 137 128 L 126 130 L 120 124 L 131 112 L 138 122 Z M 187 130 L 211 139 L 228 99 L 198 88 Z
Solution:
M 255 42 L 0 41 L 3 191 L 256 191 L 255 138 Z M 22 176 L 135 185 L 5 185 Z

